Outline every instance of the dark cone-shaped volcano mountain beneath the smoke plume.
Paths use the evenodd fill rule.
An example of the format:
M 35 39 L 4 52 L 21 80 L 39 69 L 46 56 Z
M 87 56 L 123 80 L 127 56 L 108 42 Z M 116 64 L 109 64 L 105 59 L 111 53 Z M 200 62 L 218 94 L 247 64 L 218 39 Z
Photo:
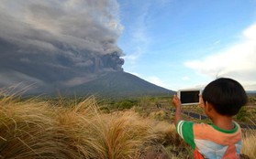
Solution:
M 173 94 L 173 90 L 167 90 L 154 85 L 146 80 L 123 71 L 110 72 L 96 80 L 69 88 L 64 91 L 68 95 L 95 94 L 104 97 L 143 97 Z

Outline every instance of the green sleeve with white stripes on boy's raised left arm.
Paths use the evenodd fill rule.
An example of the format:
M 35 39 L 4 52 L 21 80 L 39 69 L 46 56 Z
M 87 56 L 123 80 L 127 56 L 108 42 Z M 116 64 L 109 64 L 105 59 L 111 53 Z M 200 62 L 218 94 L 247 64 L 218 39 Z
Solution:
M 193 124 L 194 122 L 180 121 L 177 124 L 176 131 L 195 150 Z

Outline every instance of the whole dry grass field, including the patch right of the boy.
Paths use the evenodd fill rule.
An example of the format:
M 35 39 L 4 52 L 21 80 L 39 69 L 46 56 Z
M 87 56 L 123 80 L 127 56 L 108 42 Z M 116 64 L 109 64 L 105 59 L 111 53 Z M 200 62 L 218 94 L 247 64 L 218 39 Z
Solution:
M 192 158 L 162 99 L 21 100 L 1 95 L 0 158 Z M 168 99 L 164 99 L 164 101 Z M 114 106 L 113 106 L 114 104 Z M 130 106 L 133 105 L 133 106 Z M 111 109 L 106 109 L 111 108 Z M 256 133 L 244 131 L 242 153 L 256 158 Z

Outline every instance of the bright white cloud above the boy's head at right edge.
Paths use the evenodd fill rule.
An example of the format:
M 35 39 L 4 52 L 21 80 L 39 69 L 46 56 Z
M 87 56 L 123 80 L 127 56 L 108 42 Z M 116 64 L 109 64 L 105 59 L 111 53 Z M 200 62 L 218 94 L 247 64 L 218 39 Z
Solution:
M 208 77 L 229 77 L 242 81 L 247 89 L 256 82 L 256 24 L 242 33 L 237 44 L 205 58 L 184 62 L 184 65 Z

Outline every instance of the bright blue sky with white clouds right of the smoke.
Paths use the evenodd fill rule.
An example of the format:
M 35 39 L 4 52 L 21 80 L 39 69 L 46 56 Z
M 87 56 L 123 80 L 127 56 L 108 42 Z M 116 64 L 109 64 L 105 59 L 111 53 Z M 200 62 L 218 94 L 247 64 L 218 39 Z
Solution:
M 117 0 L 124 70 L 170 90 L 217 77 L 256 90 L 255 0 Z

